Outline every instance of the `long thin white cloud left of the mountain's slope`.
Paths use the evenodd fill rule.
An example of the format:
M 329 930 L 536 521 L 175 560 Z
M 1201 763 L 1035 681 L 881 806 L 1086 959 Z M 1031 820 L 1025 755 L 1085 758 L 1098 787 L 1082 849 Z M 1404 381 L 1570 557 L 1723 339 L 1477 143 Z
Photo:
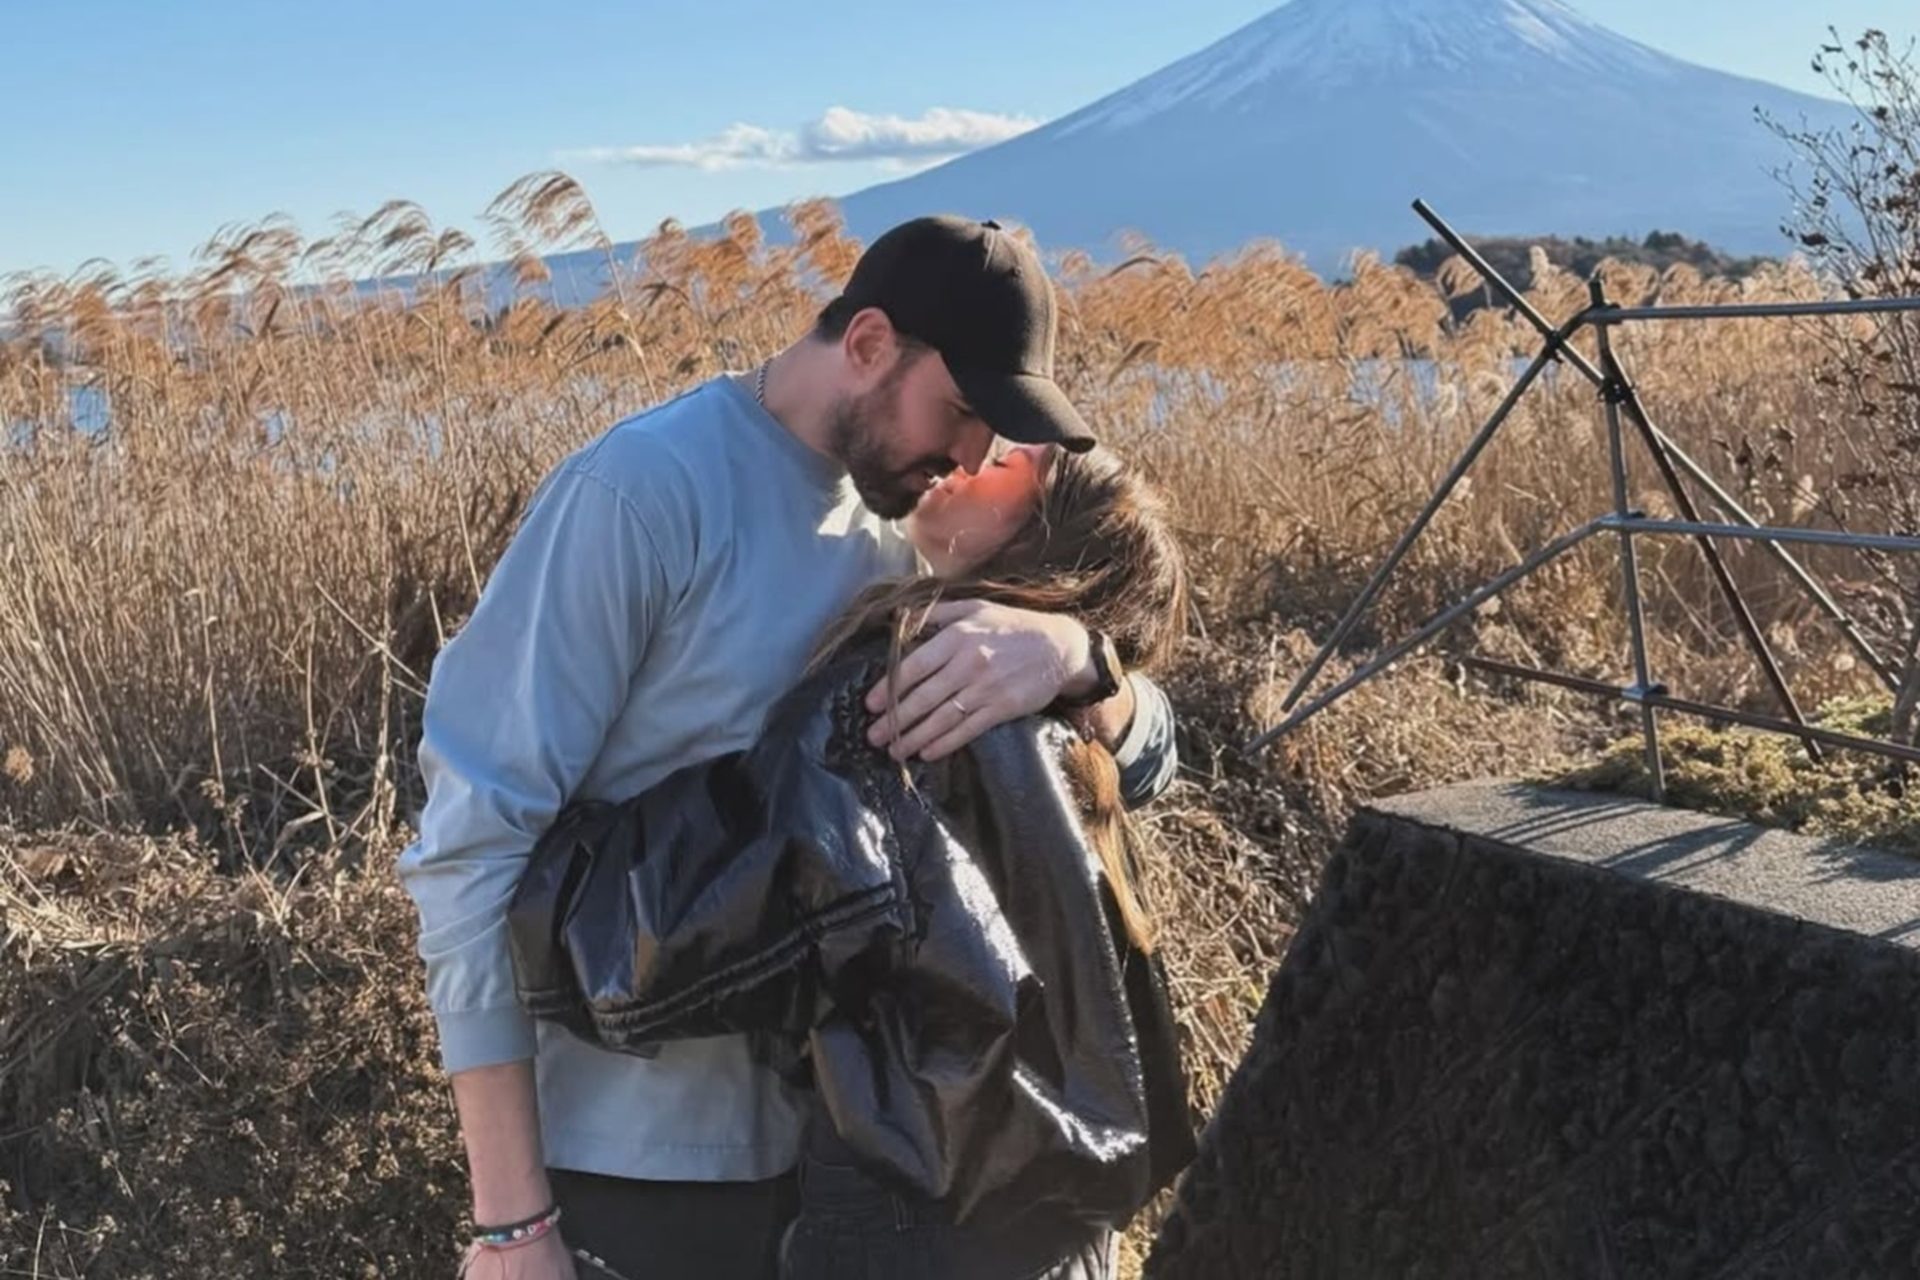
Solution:
M 730 125 L 699 142 L 597 146 L 568 152 L 566 159 L 641 165 L 647 169 L 781 169 L 835 161 L 879 161 L 887 167 L 924 167 L 966 152 L 1018 138 L 1041 121 L 933 107 L 920 117 L 868 115 L 828 107 L 820 119 L 785 132 L 758 125 Z

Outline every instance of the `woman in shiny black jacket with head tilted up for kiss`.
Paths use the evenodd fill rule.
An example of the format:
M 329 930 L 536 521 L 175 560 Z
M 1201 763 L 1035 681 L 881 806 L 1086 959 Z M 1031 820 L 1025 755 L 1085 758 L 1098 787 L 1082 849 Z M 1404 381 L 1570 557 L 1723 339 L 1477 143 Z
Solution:
M 1071 714 L 902 770 L 862 695 L 939 601 L 1179 641 L 1164 505 L 1112 453 L 1023 447 L 908 520 L 747 752 L 563 814 L 509 913 L 520 994 L 597 1044 L 749 1031 L 818 1090 L 787 1274 L 1104 1276 L 1192 1153 L 1114 758 Z M 1102 643 L 1104 647 L 1104 643 Z

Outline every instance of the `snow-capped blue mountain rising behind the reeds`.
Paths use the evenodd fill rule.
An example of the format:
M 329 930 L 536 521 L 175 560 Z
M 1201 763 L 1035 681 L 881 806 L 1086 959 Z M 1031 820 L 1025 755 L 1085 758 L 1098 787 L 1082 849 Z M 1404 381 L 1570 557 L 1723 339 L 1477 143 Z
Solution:
M 1809 50 L 1812 52 L 1812 50 Z M 1782 253 L 1786 144 L 1839 102 L 1699 67 L 1561 0 L 1292 0 L 1071 115 L 845 196 L 849 228 L 956 211 L 1044 249 L 1137 230 L 1194 261 L 1279 240 L 1321 274 L 1425 240 L 1425 196 L 1467 234 L 1678 230 Z M 778 213 L 762 215 L 770 234 Z

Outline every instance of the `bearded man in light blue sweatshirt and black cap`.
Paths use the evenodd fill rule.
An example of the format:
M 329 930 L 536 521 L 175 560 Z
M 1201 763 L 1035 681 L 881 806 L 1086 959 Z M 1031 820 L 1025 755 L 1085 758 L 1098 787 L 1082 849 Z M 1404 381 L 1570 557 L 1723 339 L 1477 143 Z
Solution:
M 434 666 L 420 839 L 399 873 L 472 1171 L 474 1221 L 555 1199 L 564 1222 L 480 1251 L 472 1272 L 570 1276 L 559 1240 L 632 1280 L 774 1274 L 795 1205 L 804 1100 L 743 1036 L 612 1054 L 520 1009 L 505 908 L 555 814 L 624 798 L 749 745 L 822 628 L 864 585 L 914 572 L 891 520 L 995 434 L 1083 449 L 1054 386 L 1054 297 L 995 223 L 881 236 L 814 330 L 755 376 L 716 378 L 616 424 L 534 495 L 472 618 Z M 1173 768 L 1146 681 L 1100 689 L 1071 618 L 950 604 L 872 739 L 939 758 L 1056 700 L 1098 700 L 1129 794 Z M 885 714 L 885 712 L 895 714 Z M 538 1061 L 538 1071 L 534 1069 Z

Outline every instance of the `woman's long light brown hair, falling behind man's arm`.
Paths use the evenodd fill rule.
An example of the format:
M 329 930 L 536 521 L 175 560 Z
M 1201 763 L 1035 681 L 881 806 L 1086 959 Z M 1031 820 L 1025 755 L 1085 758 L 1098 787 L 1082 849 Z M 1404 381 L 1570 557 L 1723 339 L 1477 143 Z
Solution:
M 1004 547 L 960 578 L 899 578 L 868 587 L 820 639 L 812 666 L 854 639 L 887 633 L 889 676 L 899 672 L 927 610 L 941 601 L 1069 614 L 1114 637 L 1129 670 L 1152 674 L 1173 658 L 1187 628 L 1187 560 L 1165 499 L 1116 453 L 1056 451 L 1033 516 Z M 1121 804 L 1119 766 L 1100 743 L 1077 741 L 1066 773 L 1127 936 L 1150 952 L 1154 927 L 1137 877 L 1146 850 Z

